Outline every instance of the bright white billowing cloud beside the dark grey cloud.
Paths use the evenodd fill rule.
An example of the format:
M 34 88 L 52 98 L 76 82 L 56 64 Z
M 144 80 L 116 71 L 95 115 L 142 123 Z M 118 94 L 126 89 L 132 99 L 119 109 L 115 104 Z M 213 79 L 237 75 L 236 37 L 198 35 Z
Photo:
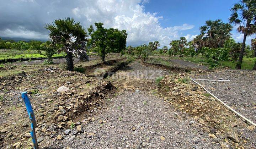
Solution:
M 125 29 L 128 33 L 128 45 L 147 44 L 158 40 L 161 46 L 167 46 L 171 40 L 179 37 L 179 31 L 194 28 L 186 23 L 163 28 L 159 23 L 163 17 L 156 16 L 157 13 L 145 12 L 139 3 L 138 0 L 86 1 L 75 7 L 73 13 L 77 17 L 86 17 L 91 23 L 100 21 L 105 27 Z

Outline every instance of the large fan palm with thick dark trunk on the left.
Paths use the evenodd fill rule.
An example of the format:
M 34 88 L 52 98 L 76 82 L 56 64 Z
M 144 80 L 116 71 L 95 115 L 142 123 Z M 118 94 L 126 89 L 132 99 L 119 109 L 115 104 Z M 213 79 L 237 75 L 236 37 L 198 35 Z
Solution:
M 49 37 L 52 44 L 62 44 L 60 51 L 67 54 L 68 70 L 74 70 L 73 56 L 74 54 L 79 60 L 89 61 L 86 54 L 86 42 L 88 42 L 87 32 L 80 22 L 74 21 L 74 18 L 57 19 L 52 24 L 46 24 L 46 29 L 50 31 Z M 60 52 L 59 51 L 59 52 Z

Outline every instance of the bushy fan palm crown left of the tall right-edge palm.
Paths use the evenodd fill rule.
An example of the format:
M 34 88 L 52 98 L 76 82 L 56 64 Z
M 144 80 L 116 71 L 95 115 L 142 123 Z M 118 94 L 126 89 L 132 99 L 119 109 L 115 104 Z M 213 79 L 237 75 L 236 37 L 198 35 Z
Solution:
M 226 39 L 230 38 L 232 26 L 229 23 L 223 23 L 218 19 L 215 21 L 207 20 L 204 26 L 200 27 L 204 46 L 209 48 L 222 48 Z

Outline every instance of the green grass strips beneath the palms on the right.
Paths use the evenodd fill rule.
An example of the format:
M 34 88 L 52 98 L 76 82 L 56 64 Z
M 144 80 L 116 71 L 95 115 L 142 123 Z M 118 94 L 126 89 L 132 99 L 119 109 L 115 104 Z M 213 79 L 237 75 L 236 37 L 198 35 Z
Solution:
M 178 57 L 174 57 L 174 58 L 177 58 Z M 186 60 L 186 61 L 191 61 L 191 62 L 194 62 L 194 63 L 199 63 L 199 64 L 203 64 L 203 65 L 209 65 L 208 63 L 204 62 L 204 56 L 202 55 L 197 55 L 197 56 L 194 56 L 194 57 L 179 57 L 179 59 L 183 59 L 183 60 Z M 256 58 L 248 58 L 248 57 L 244 57 L 243 58 L 243 61 L 242 61 L 242 67 L 241 69 L 247 69 L 247 70 L 252 70 L 253 66 L 254 66 L 254 60 L 256 60 Z M 230 69 L 234 69 L 235 66 L 236 66 L 236 61 L 219 61 L 219 66 L 220 67 L 228 67 Z

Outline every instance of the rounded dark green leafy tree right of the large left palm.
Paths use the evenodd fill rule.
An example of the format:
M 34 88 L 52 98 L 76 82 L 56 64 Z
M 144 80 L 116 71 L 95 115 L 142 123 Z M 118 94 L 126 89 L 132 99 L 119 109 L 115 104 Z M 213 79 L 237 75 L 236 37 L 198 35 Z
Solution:
M 105 61 L 105 56 L 108 52 L 120 52 L 126 48 L 127 33 L 126 30 L 118 31 L 118 29 L 106 29 L 103 23 L 94 23 L 96 31 L 92 25 L 88 28 L 91 35 L 90 45 L 95 44 L 99 48 L 98 53 L 101 55 L 101 60 Z

